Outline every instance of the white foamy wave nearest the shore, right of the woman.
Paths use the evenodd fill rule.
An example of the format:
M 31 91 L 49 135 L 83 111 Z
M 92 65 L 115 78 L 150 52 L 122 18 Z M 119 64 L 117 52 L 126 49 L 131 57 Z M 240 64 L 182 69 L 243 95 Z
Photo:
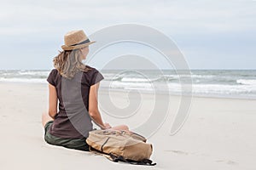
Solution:
M 150 82 L 110 82 L 102 84 L 102 88 L 142 90 L 148 92 L 169 92 L 171 94 L 219 94 L 219 95 L 247 95 L 256 97 L 256 87 L 250 85 L 227 85 L 227 84 L 180 84 L 177 82 L 167 82 L 156 84 Z M 189 88 L 190 87 L 190 88 Z

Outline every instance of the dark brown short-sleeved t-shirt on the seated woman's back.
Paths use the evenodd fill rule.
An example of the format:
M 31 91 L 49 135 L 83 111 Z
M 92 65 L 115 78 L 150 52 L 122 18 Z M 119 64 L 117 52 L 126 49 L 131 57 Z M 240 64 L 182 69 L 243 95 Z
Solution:
M 72 79 L 62 77 L 53 69 L 47 81 L 55 86 L 59 100 L 59 111 L 55 116 L 49 133 L 60 138 L 87 138 L 92 130 L 88 113 L 90 86 L 100 82 L 104 77 L 95 68 L 79 71 Z

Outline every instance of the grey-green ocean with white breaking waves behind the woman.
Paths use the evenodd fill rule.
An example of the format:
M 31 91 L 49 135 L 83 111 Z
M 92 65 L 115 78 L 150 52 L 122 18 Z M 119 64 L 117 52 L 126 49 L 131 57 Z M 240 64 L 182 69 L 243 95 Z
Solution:
M 256 70 L 192 70 L 191 75 L 181 76 L 173 70 L 101 72 L 101 88 L 111 90 L 181 94 L 181 83 L 189 85 L 192 80 L 194 96 L 256 99 Z M 0 82 L 47 83 L 48 75 L 49 70 L 2 70 Z

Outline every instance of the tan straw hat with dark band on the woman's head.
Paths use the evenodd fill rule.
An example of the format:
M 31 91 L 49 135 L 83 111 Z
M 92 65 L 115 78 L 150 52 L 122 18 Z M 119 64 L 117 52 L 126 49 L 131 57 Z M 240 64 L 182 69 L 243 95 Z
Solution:
M 64 50 L 73 50 L 78 48 L 84 48 L 91 43 L 88 37 L 85 35 L 83 30 L 69 31 L 64 36 L 65 45 L 61 48 Z

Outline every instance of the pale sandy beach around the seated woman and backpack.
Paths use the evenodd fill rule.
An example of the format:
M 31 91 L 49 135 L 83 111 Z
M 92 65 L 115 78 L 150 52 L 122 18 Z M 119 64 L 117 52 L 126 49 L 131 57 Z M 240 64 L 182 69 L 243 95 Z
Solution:
M 151 159 L 157 165 L 147 167 L 116 163 L 89 152 L 46 144 L 41 125 L 41 115 L 48 107 L 46 83 L 1 82 L 0 92 L 0 169 L 253 170 L 256 167 L 255 99 L 193 97 L 186 122 L 179 132 L 171 135 L 172 113 L 177 111 L 180 97 L 170 96 L 170 114 L 148 138 L 154 149 Z M 113 93 L 113 100 L 126 96 L 121 91 Z M 99 94 L 103 103 L 106 96 Z M 133 99 L 135 94 L 130 95 Z M 150 95 L 145 94 L 144 101 L 150 102 Z M 147 102 L 143 105 L 141 112 L 148 112 L 150 105 Z M 116 121 L 105 114 L 102 117 L 111 125 L 125 123 L 125 119 Z M 127 125 L 136 126 L 142 119 L 137 120 L 134 124 L 128 120 Z

